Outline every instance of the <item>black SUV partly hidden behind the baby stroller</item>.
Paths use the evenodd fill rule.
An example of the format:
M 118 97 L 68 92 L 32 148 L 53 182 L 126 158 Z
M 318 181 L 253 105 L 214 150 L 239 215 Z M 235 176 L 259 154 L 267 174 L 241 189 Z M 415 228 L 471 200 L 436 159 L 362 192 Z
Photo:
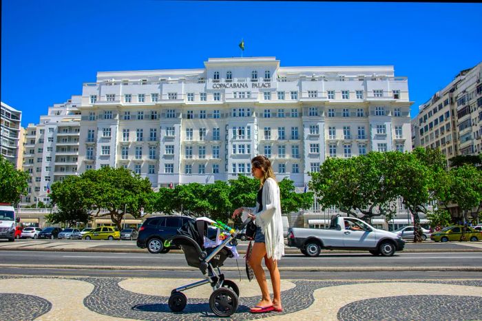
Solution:
M 164 247 L 164 241 L 177 234 L 178 229 L 189 220 L 189 216 L 154 216 L 147 218 L 139 229 L 137 246 L 147 249 L 151 253 L 167 253 L 169 248 Z

